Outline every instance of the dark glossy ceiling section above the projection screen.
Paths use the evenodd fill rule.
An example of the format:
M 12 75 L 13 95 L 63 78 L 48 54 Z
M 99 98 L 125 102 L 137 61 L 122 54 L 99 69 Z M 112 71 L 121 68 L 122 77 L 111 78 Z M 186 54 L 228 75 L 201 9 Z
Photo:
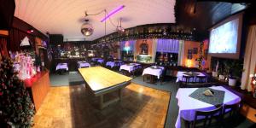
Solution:
M 177 23 L 183 27 L 194 29 L 196 35 L 201 36 L 196 37 L 199 40 L 205 39 L 210 27 L 226 17 L 246 9 L 246 6 L 239 1 L 241 0 L 178 0 Z

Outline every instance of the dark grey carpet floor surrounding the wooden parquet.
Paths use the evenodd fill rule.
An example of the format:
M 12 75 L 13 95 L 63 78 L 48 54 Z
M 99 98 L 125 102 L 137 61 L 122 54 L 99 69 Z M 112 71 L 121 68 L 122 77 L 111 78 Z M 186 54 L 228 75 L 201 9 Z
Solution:
M 149 84 L 147 82 L 143 82 L 143 76 L 137 76 L 132 79 L 132 83 L 139 84 L 142 86 L 146 86 L 149 88 L 153 88 L 156 90 L 165 90 L 172 92 L 172 98 L 169 102 L 169 108 L 166 116 L 166 128 L 174 128 L 177 114 L 178 114 L 178 106 L 177 99 L 175 98 L 177 94 L 177 90 L 179 88 L 178 84 L 175 82 L 176 78 L 166 78 L 165 82 L 160 84 L 160 82 L 156 84 Z M 83 84 L 84 79 L 80 76 L 78 72 L 65 73 L 62 75 L 59 74 L 50 74 L 50 82 L 52 86 L 69 86 L 74 84 Z M 233 128 L 248 128 L 250 125 L 253 125 L 248 119 L 241 119 L 238 125 L 232 126 Z

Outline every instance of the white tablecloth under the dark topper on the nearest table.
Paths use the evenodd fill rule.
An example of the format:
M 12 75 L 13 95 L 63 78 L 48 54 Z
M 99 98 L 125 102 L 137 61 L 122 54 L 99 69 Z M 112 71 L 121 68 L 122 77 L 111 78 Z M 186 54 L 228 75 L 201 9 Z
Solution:
M 230 92 L 230 90 L 227 90 L 222 86 L 212 86 L 210 88 L 214 90 L 225 91 L 224 104 L 235 104 L 241 101 L 241 98 L 239 96 L 236 96 L 236 94 Z M 190 97 L 189 95 L 193 93 L 196 89 L 198 88 L 180 88 L 177 90 L 176 98 L 179 110 L 177 115 L 177 121 L 175 124 L 176 128 L 181 127 L 181 117 L 183 117 L 183 119 L 191 121 L 194 120 L 195 110 L 207 111 L 215 108 L 212 104 L 209 104 L 207 102 L 201 102 Z

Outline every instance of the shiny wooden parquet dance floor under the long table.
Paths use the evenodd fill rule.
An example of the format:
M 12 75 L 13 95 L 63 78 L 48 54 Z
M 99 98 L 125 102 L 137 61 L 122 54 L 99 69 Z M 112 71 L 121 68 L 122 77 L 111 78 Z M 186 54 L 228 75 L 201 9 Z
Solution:
M 84 86 L 51 87 L 41 108 L 34 116 L 33 127 L 39 128 L 119 128 L 164 127 L 170 92 L 139 84 L 126 86 L 122 102 L 99 110 L 86 95 Z M 107 97 L 118 96 L 117 92 Z

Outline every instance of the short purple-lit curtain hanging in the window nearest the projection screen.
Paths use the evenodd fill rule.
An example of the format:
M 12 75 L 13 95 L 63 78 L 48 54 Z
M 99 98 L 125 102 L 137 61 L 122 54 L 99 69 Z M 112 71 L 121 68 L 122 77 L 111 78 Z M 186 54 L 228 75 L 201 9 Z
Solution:
M 158 39 L 156 45 L 157 52 L 178 53 L 178 40 Z

